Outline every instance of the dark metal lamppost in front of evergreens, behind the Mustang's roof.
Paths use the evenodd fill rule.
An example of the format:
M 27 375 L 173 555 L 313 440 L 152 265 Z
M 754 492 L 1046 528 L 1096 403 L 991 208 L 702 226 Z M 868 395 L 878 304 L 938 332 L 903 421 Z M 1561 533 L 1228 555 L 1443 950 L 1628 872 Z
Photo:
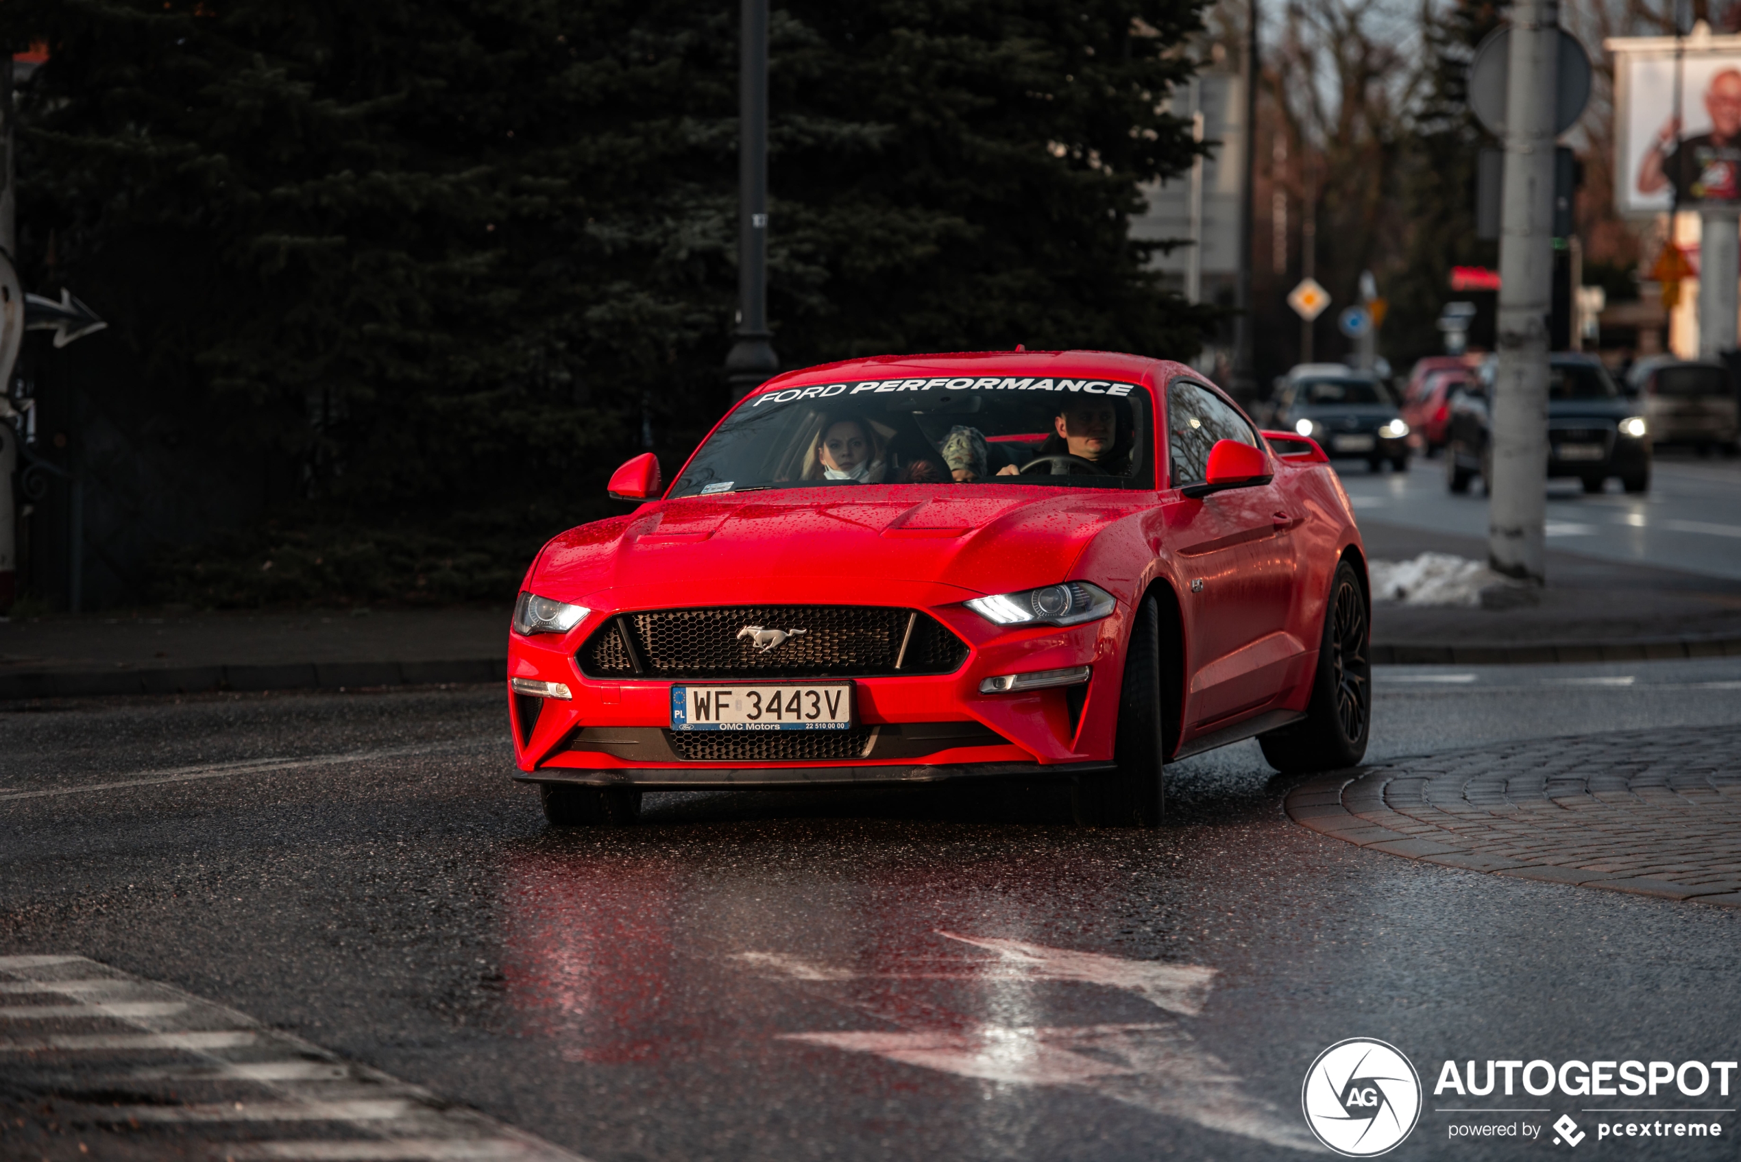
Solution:
M 738 331 L 726 355 L 731 401 L 780 369 L 768 341 L 768 0 L 743 0 L 738 56 Z

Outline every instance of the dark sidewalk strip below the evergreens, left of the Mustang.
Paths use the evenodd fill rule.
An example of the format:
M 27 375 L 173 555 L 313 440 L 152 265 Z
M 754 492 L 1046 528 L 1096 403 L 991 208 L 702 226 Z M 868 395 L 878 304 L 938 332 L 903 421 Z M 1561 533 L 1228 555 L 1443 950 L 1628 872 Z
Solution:
M 503 681 L 508 608 L 0 624 L 0 699 Z

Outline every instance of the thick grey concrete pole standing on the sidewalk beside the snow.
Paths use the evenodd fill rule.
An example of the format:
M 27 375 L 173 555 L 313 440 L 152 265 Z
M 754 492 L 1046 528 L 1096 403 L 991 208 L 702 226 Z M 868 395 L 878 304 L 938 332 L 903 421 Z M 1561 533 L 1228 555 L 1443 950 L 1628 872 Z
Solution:
M 1548 310 L 1553 305 L 1553 122 L 1560 7 L 1511 7 L 1506 178 L 1499 218 L 1499 369 L 1487 476 L 1487 559 L 1497 573 L 1546 580 Z

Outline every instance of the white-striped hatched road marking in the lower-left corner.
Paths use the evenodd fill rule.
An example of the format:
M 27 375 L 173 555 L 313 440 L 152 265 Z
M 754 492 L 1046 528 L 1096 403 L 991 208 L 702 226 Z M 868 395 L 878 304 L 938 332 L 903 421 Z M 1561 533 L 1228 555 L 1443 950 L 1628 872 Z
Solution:
M 418 747 L 428 751 L 432 747 Z M 0 1052 L 136 1054 L 171 1051 L 192 1054 L 198 1064 L 165 1063 L 124 1073 L 132 1082 L 178 1080 L 251 1085 L 258 1096 L 242 1101 L 183 1101 L 165 1105 L 97 1105 L 87 1117 L 127 1125 L 176 1124 L 221 1125 L 223 1139 L 212 1141 L 214 1157 L 225 1159 L 310 1159 L 312 1162 L 357 1159 L 479 1159 L 482 1162 L 585 1162 L 510 1125 L 474 1110 L 442 1101 L 380 1070 L 345 1063 L 301 1038 L 263 1028 L 244 1012 L 202 1000 L 181 990 L 115 972 L 84 956 L 0 956 L 7 993 L 47 993 L 78 1003 L 10 1005 L 0 1019 L 54 1016 L 77 1019 L 101 1016 L 132 1024 L 138 1033 L 0 1038 Z M 64 979 L 61 979 L 64 977 Z M 103 1002 L 103 996 L 125 1000 Z M 24 1014 L 24 1016 L 21 1016 Z M 239 1051 L 240 1059 L 228 1054 Z M 265 1054 L 261 1052 L 265 1051 Z M 261 1057 L 266 1059 L 261 1059 Z M 115 1077 L 115 1064 L 85 1056 L 68 1068 L 64 1059 L 42 1063 L 9 1061 L 14 1084 L 52 1094 L 57 1089 L 89 1091 L 92 1082 Z M 233 1091 L 232 1091 L 233 1092 Z M 277 1124 L 327 1122 L 350 1127 L 357 1138 L 315 1141 L 259 1139 Z M 197 1131 L 185 1131 L 197 1132 Z M 306 1132 L 306 1131 L 305 1131 Z M 242 1141 L 237 1141 L 242 1136 Z M 254 1138 L 254 1141 L 247 1141 Z

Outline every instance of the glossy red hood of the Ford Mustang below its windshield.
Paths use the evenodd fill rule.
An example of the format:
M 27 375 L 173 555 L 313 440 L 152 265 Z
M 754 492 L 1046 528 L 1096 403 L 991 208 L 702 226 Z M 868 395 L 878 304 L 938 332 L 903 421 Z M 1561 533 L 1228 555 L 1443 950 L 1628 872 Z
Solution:
M 688 497 L 581 524 L 540 554 L 533 584 L 557 601 L 689 605 L 707 582 L 890 580 L 961 596 L 1064 580 L 1140 493 L 999 486 L 782 490 Z

